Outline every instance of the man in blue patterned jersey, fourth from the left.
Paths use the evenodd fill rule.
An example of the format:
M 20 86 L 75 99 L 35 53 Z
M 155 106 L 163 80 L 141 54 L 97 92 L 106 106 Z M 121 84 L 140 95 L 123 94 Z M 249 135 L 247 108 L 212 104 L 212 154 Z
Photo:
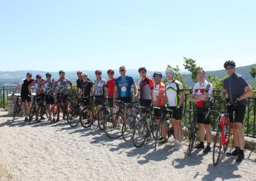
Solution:
M 67 98 L 68 98 L 68 85 L 70 85 L 70 91 L 72 91 L 73 86 L 72 82 L 65 78 L 65 71 L 60 70 L 59 71 L 60 79 L 55 82 L 53 92 L 55 92 L 55 89 L 57 89 L 57 100 L 59 103 L 63 103 L 63 107 L 66 107 Z M 63 113 L 63 120 L 65 120 L 66 113 Z M 59 119 L 59 118 L 58 118 Z

